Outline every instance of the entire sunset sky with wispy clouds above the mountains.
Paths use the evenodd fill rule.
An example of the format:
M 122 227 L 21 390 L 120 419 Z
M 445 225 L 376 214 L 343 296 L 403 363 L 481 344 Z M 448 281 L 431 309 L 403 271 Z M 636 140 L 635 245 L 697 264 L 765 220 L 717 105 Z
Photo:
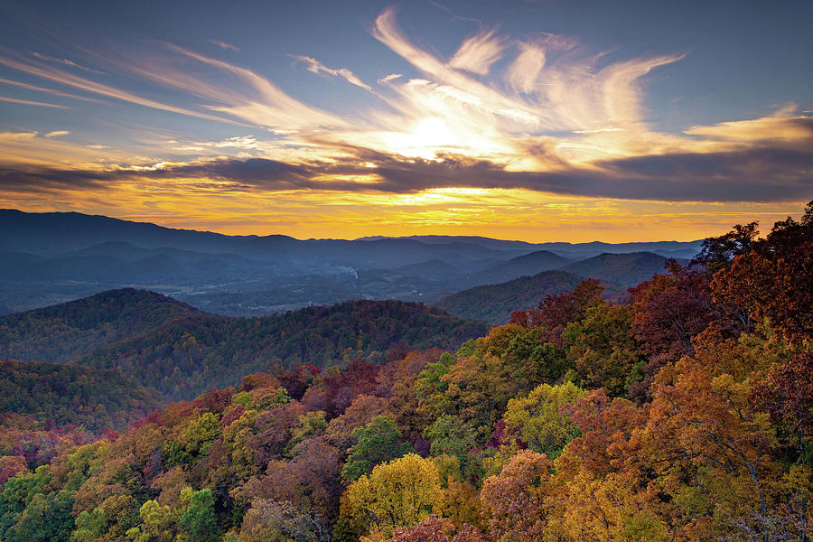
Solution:
M 693 240 L 813 200 L 813 3 L 0 0 L 0 207 Z

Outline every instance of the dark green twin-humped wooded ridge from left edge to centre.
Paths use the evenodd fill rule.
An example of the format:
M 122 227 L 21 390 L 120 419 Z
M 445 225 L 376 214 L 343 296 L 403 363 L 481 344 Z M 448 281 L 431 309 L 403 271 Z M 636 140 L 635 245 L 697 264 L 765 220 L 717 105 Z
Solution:
M 0 352 L 5 359 L 118 369 L 170 397 L 192 398 L 277 366 L 382 360 L 397 346 L 454 349 L 487 331 L 485 323 L 398 301 L 228 318 L 125 289 L 0 320 Z

